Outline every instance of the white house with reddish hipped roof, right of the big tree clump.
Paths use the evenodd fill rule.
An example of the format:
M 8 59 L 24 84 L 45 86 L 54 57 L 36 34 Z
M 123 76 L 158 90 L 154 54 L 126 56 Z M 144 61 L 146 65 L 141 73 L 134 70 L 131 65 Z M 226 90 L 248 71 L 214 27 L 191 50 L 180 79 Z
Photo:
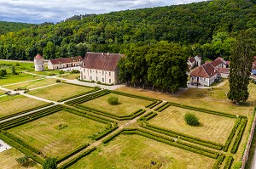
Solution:
M 211 63 L 206 63 L 191 72 L 189 84 L 196 86 L 210 86 L 215 82 L 217 77 L 218 71 L 214 69 Z

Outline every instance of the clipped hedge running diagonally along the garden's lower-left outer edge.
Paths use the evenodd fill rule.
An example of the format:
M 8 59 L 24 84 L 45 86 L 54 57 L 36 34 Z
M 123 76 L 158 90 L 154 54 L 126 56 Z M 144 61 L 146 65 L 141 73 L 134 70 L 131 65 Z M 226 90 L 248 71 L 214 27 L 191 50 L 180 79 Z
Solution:
M 27 149 L 23 147 L 22 145 L 16 143 L 13 139 L 8 138 L 3 134 L 3 132 L 0 132 L 0 138 L 3 139 L 3 141 L 11 146 L 13 146 L 15 149 L 18 149 L 23 154 L 29 156 L 33 161 L 38 162 L 39 164 L 43 165 L 44 160 L 39 158 L 38 155 L 35 155 L 31 149 Z

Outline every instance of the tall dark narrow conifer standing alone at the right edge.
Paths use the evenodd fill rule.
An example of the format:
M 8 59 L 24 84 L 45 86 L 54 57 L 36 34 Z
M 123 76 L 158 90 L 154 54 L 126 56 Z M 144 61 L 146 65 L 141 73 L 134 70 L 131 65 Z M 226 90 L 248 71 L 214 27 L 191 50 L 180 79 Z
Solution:
M 228 98 L 239 104 L 248 99 L 248 84 L 252 70 L 255 44 L 253 36 L 256 30 L 241 32 L 231 51 L 230 58 L 230 92 Z

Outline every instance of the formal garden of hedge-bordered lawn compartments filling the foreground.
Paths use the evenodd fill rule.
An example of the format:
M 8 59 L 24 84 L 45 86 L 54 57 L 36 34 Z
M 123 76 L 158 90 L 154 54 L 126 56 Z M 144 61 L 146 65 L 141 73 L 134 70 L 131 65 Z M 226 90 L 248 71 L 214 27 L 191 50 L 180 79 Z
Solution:
M 140 155 L 129 155 L 128 157 L 125 156 L 127 154 L 127 147 L 124 148 L 121 146 L 120 149 L 122 149 L 121 152 L 125 157 L 120 158 L 117 163 L 106 163 L 106 165 L 112 165 L 112 166 L 120 166 L 124 165 L 124 168 L 129 168 L 130 166 L 137 166 L 137 165 L 144 165 L 145 168 L 149 166 L 168 166 L 168 167 L 187 167 L 186 165 L 193 165 L 189 166 L 192 168 L 201 167 L 201 164 L 203 159 L 204 161 L 207 161 L 207 168 L 230 168 L 232 166 L 232 163 L 234 161 L 234 158 L 236 156 L 236 151 L 240 146 L 241 138 L 243 137 L 243 132 L 245 130 L 245 127 L 247 126 L 247 117 L 241 116 L 241 115 L 231 115 L 226 114 L 224 112 L 214 111 L 214 110 L 207 110 L 202 108 L 196 108 L 193 106 L 183 105 L 183 104 L 177 104 L 172 102 L 166 102 L 159 99 L 151 99 L 148 97 L 143 96 L 137 96 L 130 93 L 122 93 L 117 91 L 109 91 L 109 90 L 100 90 L 99 88 L 91 89 L 93 93 L 87 93 L 84 94 L 77 94 L 73 95 L 71 97 L 63 98 L 59 100 L 60 102 L 65 102 L 67 104 L 66 106 L 62 105 L 54 105 L 51 107 L 48 107 L 44 110 L 39 110 L 38 112 L 32 113 L 31 115 L 25 115 L 20 118 L 17 118 L 12 121 L 6 121 L 3 123 L 0 123 L 0 137 L 7 142 L 8 144 L 11 144 L 16 149 L 19 149 L 21 152 L 23 152 L 26 155 L 29 155 L 34 161 L 37 161 L 38 163 L 42 164 L 44 162 L 44 159 L 46 156 L 57 156 L 57 162 L 59 164 L 59 168 L 79 168 L 81 166 L 84 167 L 90 166 L 93 164 L 93 162 L 90 162 L 90 156 L 92 156 L 94 159 L 95 155 L 100 154 L 99 162 L 103 161 L 103 164 L 106 163 L 106 158 L 108 157 L 109 161 L 112 161 L 111 155 L 105 156 L 105 153 L 101 153 L 102 151 L 105 152 L 104 149 L 110 149 L 110 147 L 115 147 L 115 144 L 112 144 L 112 142 L 119 143 L 119 140 L 127 139 L 128 142 L 131 144 L 133 142 L 133 138 L 140 138 L 140 139 L 146 139 L 146 142 L 154 142 L 157 144 L 160 144 L 160 146 L 168 147 L 168 149 L 183 149 L 180 151 L 183 151 L 182 155 L 187 156 L 193 156 L 193 155 L 199 155 L 197 158 L 200 158 L 195 164 L 193 162 L 188 162 L 189 160 L 182 160 L 178 161 L 177 158 L 174 158 L 171 163 L 166 163 L 166 160 L 163 158 L 155 159 L 156 155 L 152 155 L 152 158 L 150 161 L 143 161 L 144 155 L 146 154 L 140 154 Z M 130 106 L 133 107 L 132 110 L 125 110 L 125 108 L 120 108 L 120 110 L 123 110 L 123 112 L 119 113 L 119 110 L 111 109 L 112 105 L 107 104 L 108 97 L 110 96 L 116 96 L 119 97 L 120 104 L 114 105 L 114 106 L 120 106 L 124 102 L 123 106 Z M 102 104 L 102 102 L 105 102 Z M 138 104 L 137 104 L 138 103 Z M 97 106 L 97 104 L 102 104 L 103 106 Z M 136 106 L 137 105 L 137 106 Z M 171 115 L 169 111 L 174 110 L 172 114 L 183 114 L 185 111 L 194 112 L 195 114 L 199 115 L 200 118 L 206 119 L 207 117 L 212 120 L 214 118 L 215 121 L 212 121 L 212 123 L 209 123 L 209 127 L 213 127 L 212 130 L 214 130 L 214 123 L 218 123 L 218 120 L 223 120 L 224 124 L 229 123 L 227 127 L 228 134 L 224 134 L 224 140 L 217 138 L 207 138 L 207 137 L 201 137 L 200 135 L 191 134 L 191 132 L 185 132 L 177 130 L 177 127 L 165 127 L 161 126 L 160 124 L 164 124 L 165 121 L 172 121 L 172 117 L 168 117 L 167 114 Z M 179 112 L 180 111 L 180 112 Z M 169 113 L 168 113 L 169 112 Z M 85 143 L 84 140 L 81 141 L 79 138 L 74 138 L 78 140 L 78 144 L 73 145 L 73 149 L 66 149 L 66 152 L 62 151 L 60 149 L 55 150 L 54 152 L 49 153 L 50 146 L 55 147 L 61 147 L 61 144 L 50 144 L 50 143 L 44 143 L 44 144 L 28 144 L 32 141 L 43 139 L 43 135 L 47 135 L 48 133 L 44 134 L 36 134 L 35 132 L 29 132 L 32 131 L 33 128 L 37 128 L 38 124 L 41 124 L 42 121 L 45 121 L 44 118 L 50 117 L 50 115 L 56 115 L 52 116 L 49 119 L 55 119 L 55 121 L 46 121 L 43 122 L 47 130 L 49 130 L 49 126 L 51 130 L 55 132 L 63 132 L 65 130 L 69 130 L 71 127 L 71 124 L 76 123 L 77 121 L 73 122 L 67 122 L 67 121 L 60 121 L 58 120 L 58 117 L 60 114 L 63 114 L 64 116 L 67 116 L 67 118 L 72 119 L 70 115 L 79 115 L 81 117 L 85 117 L 86 119 L 90 119 L 92 121 L 98 121 L 102 124 L 105 124 L 104 127 L 96 127 L 93 126 L 90 128 L 91 131 L 94 131 L 94 133 L 87 134 L 86 137 L 84 136 L 84 140 L 87 140 Z M 167 115 L 166 119 L 164 116 L 161 115 Z M 115 130 L 119 127 L 119 122 L 121 121 L 129 121 L 136 117 L 139 117 L 137 119 L 137 127 L 124 127 L 123 129 L 120 129 L 115 132 Z M 158 119 L 159 118 L 159 119 Z M 162 119 L 162 121 L 160 121 Z M 176 119 L 176 118 L 174 118 Z M 176 119 L 178 120 L 178 118 Z M 58 121 L 58 122 L 56 122 Z M 159 124 L 154 121 L 159 121 Z M 179 121 L 180 122 L 180 121 Z M 206 123 L 207 121 L 203 121 L 202 124 Z M 48 125 L 45 125 L 45 124 Z M 59 124 L 60 123 L 60 124 Z M 122 124 L 122 123 L 120 123 Z M 230 125 L 231 124 L 231 125 Z M 167 126 L 170 126 L 172 124 L 167 124 Z M 218 125 L 218 124 L 217 124 Z M 40 125 L 39 125 L 40 126 Z M 204 127 L 204 125 L 200 126 Z M 39 127 L 38 127 L 39 128 Z M 97 130 L 99 128 L 102 128 L 102 130 Z M 35 129 L 40 130 L 40 129 Z M 193 127 L 191 127 L 191 131 L 193 132 Z M 22 132 L 24 131 L 24 132 Z M 22 132 L 22 133 L 21 133 Z M 73 131 L 74 132 L 74 131 Z M 82 132 L 82 131 L 80 131 Z M 76 133 L 75 135 L 79 135 L 79 133 Z M 52 138 L 50 135 L 55 134 L 49 134 L 49 138 Z M 122 136 L 125 135 L 125 136 Z M 201 133 L 202 136 L 206 135 L 206 133 Z M 124 138 L 125 137 L 125 138 Z M 121 138 L 121 139 L 120 139 Z M 60 142 L 61 138 L 57 138 L 55 142 Z M 102 145 L 98 147 L 91 147 L 90 144 L 92 144 L 96 140 L 102 139 Z M 58 140 L 58 141 L 57 141 Z M 71 142 L 71 140 L 68 140 Z M 68 142 L 67 141 L 67 142 Z M 54 142 L 54 141 L 53 141 Z M 62 144 L 67 144 L 67 142 L 63 142 Z M 137 141 L 138 143 L 138 141 Z M 128 146 L 128 145 L 127 145 Z M 43 149 L 43 147 L 46 147 Z M 106 148 L 105 148 L 106 147 Z M 131 146 L 128 146 L 129 149 L 131 149 Z M 146 145 L 148 149 L 152 149 L 152 143 Z M 62 148 L 64 149 L 64 148 Z M 102 149 L 102 150 L 101 150 Z M 111 148 L 112 149 L 112 148 Z M 155 148 L 157 149 L 157 148 Z M 166 148 L 167 149 L 167 148 Z M 146 148 L 141 149 L 141 151 L 147 151 Z M 61 153 L 61 155 L 58 155 L 58 152 Z M 177 152 L 174 151 L 174 153 Z M 114 153 L 116 154 L 116 152 Z M 149 153 L 150 154 L 150 153 Z M 191 155 L 193 154 L 193 155 Z M 87 156 L 89 155 L 89 156 Z M 185 156 L 186 156 L 185 155 Z M 138 159 L 137 159 L 138 158 Z M 141 159 L 140 159 L 141 158 Z M 181 157 L 182 158 L 182 157 Z M 81 161 L 83 159 L 83 161 Z M 123 161 L 123 162 L 121 162 Z M 129 166 L 125 166 L 127 161 L 135 161 L 134 164 L 130 164 Z M 186 161 L 185 163 L 183 163 Z M 105 162 L 105 163 L 104 163 Z M 152 164 L 150 164 L 152 162 Z M 98 164 L 98 163 L 97 163 Z M 105 166 L 95 166 L 97 168 L 104 168 Z

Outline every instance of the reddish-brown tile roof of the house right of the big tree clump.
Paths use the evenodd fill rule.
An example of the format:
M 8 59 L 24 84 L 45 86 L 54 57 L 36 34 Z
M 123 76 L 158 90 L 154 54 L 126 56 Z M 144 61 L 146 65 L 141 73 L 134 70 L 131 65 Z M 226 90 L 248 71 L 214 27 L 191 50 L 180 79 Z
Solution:
M 218 72 L 214 69 L 211 63 L 207 63 L 196 68 L 190 76 L 200 76 L 200 77 L 212 77 L 216 75 Z

